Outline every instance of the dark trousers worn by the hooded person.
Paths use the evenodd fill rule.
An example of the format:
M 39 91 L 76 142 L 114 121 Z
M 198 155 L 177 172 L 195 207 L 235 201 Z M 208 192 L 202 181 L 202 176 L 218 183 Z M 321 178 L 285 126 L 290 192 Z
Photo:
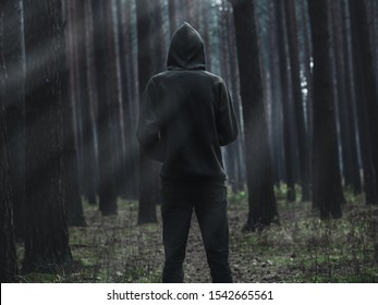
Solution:
M 183 282 L 183 261 L 193 209 L 197 216 L 212 282 L 230 283 L 227 200 L 162 200 L 166 263 L 162 282 Z

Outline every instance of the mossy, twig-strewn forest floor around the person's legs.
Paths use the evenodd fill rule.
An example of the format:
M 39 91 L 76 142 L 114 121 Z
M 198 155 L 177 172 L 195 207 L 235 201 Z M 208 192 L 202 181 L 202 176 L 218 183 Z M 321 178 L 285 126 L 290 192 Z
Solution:
M 280 225 L 245 233 L 245 194 L 231 195 L 229 202 L 234 282 L 378 282 L 378 207 L 352 198 L 342 219 L 320 221 L 309 203 L 279 202 Z M 70 228 L 74 266 L 54 274 L 24 274 L 23 282 L 161 281 L 159 207 L 158 223 L 144 225 L 136 224 L 136 202 L 120 200 L 117 217 L 102 217 L 87 204 L 84 210 L 88 225 Z M 195 216 L 186 253 L 185 282 L 210 282 Z

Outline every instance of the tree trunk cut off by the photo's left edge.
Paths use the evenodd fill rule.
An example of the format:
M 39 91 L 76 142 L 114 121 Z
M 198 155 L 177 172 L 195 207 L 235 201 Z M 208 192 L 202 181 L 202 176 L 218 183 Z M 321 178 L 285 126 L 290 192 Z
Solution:
M 9 174 L 9 147 L 7 138 L 5 103 L 12 102 L 12 82 L 10 82 L 9 62 L 5 52 L 9 45 L 4 39 L 9 33 L 7 23 L 9 9 L 13 1 L 0 3 L 0 282 L 14 282 L 19 273 L 17 258 L 15 252 L 14 228 L 13 228 L 13 203 L 11 196 L 11 179 Z M 20 3 L 19 3 L 20 4 Z M 20 30 L 20 27 L 17 27 Z M 11 74 L 9 74 L 11 73 Z M 20 190 L 19 190 L 20 192 Z

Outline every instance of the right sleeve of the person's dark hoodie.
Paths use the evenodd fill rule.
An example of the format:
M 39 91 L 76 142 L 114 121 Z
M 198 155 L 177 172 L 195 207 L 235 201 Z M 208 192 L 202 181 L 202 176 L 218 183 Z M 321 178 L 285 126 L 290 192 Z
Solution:
M 237 136 L 237 124 L 232 107 L 232 99 L 224 82 L 220 86 L 220 100 L 217 112 L 218 141 L 221 146 L 233 142 Z

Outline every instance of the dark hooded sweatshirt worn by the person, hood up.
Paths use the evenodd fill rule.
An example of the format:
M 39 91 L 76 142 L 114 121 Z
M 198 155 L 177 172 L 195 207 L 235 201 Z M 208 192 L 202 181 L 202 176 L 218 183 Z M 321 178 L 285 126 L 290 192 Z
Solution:
M 144 91 L 139 144 L 163 162 L 163 183 L 224 183 L 220 146 L 236 138 L 236 120 L 223 80 L 205 70 L 204 42 L 190 24 L 173 34 L 167 65 Z

